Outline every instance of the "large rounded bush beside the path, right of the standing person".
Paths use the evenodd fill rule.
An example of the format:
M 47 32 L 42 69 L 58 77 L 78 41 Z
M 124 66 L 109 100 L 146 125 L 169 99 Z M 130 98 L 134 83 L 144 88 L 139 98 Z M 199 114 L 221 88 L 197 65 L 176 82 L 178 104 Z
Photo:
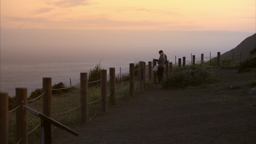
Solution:
M 164 88 L 186 88 L 214 83 L 218 80 L 210 66 L 196 64 L 195 66 L 174 67 L 167 78 L 164 78 Z

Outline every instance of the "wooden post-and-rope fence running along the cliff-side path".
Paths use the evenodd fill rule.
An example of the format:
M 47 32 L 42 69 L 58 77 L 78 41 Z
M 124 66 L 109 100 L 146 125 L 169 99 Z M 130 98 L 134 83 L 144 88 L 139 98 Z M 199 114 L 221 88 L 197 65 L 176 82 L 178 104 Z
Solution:
M 234 59 L 235 56 L 233 56 Z M 212 58 L 210 57 L 210 60 Z M 218 55 L 216 57 L 217 65 L 220 65 L 220 52 L 218 52 Z M 183 60 L 183 61 L 182 61 Z M 194 65 L 196 64 L 196 60 L 199 60 L 200 62 L 205 62 L 204 54 L 201 54 L 201 58 L 196 59 L 195 56 L 192 56 L 192 60 L 186 60 L 186 57 L 178 58 L 178 66 L 186 66 L 186 64 Z M 243 55 L 240 53 L 240 61 L 243 60 Z M 176 60 L 175 60 L 176 61 Z M 208 60 L 209 61 L 209 60 Z M 139 68 L 135 70 L 135 64 L 130 63 L 129 65 L 129 71 L 125 72 L 125 74 L 129 73 L 129 86 L 126 86 L 122 89 L 125 88 L 130 88 L 129 89 L 129 94 L 130 96 L 135 95 L 135 84 L 139 84 L 139 92 L 142 93 L 144 92 L 145 88 L 145 80 L 149 80 L 150 84 L 156 83 L 157 76 L 156 72 L 153 73 L 152 67 L 156 65 L 156 60 L 149 61 L 148 62 L 148 67 L 146 67 L 146 62 L 139 62 Z M 173 64 L 172 62 L 167 62 L 166 63 L 166 74 L 172 71 Z M 146 79 L 146 69 L 148 70 L 148 78 Z M 138 72 L 138 82 L 135 83 L 135 72 Z M 121 76 L 121 68 L 120 68 L 120 76 Z M 108 81 L 109 80 L 109 81 Z M 76 80 L 78 81 L 78 80 Z M 101 92 L 101 111 L 103 113 L 108 113 L 108 99 L 112 104 L 116 104 L 116 94 L 115 92 L 118 91 L 116 90 L 116 73 L 115 73 L 115 68 L 109 68 L 109 76 L 107 76 L 107 70 L 100 70 L 100 92 Z M 109 82 L 109 89 L 107 88 L 107 81 Z M 78 84 L 80 83 L 80 84 Z M 81 122 L 82 123 L 88 123 L 88 104 L 91 104 L 93 102 L 88 103 L 88 73 L 83 72 L 80 73 L 80 82 L 77 82 L 75 86 L 80 85 L 80 106 L 77 108 L 74 108 L 72 110 L 76 110 L 80 108 L 80 117 L 81 117 Z M 74 86 L 71 85 L 71 79 L 70 79 L 70 87 L 72 88 Z M 58 114 L 52 114 L 52 107 L 51 107 L 51 102 L 52 102 L 52 78 L 43 78 L 43 94 L 40 95 L 43 97 L 43 114 L 45 116 L 48 116 L 51 118 L 53 115 L 58 115 Z M 107 92 L 110 92 L 107 94 Z M 33 99 L 36 100 L 37 98 Z M 6 92 L 1 92 L 0 93 L 0 124 L 1 124 L 1 136 L 0 136 L 0 143 L 1 144 L 8 144 L 8 113 L 13 112 L 14 110 L 16 111 L 16 141 L 17 143 L 22 142 L 22 144 L 27 144 L 28 143 L 28 134 L 35 130 L 34 128 L 32 131 L 28 132 L 28 118 L 27 118 L 27 111 L 23 108 L 23 106 L 27 106 L 28 102 L 31 102 L 33 100 L 27 101 L 27 88 L 16 88 L 16 108 L 14 108 L 11 111 L 8 111 L 8 93 Z M 109 98 L 108 98 L 109 97 Z M 96 100 L 96 101 L 99 101 Z M 94 101 L 94 102 L 96 102 Z M 67 112 L 70 112 L 72 110 L 69 110 Z M 64 114 L 66 112 L 62 112 L 60 114 Z M 49 143 L 51 143 L 51 136 L 52 136 L 52 127 L 51 124 L 44 124 L 43 126 L 41 125 L 41 129 L 44 129 L 44 134 L 45 140 Z

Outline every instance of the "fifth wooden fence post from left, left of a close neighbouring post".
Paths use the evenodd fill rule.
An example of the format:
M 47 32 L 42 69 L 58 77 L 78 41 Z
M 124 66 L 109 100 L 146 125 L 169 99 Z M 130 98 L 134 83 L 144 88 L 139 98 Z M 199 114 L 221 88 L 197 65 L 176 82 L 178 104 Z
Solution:
M 100 70 L 101 111 L 108 113 L 107 70 Z

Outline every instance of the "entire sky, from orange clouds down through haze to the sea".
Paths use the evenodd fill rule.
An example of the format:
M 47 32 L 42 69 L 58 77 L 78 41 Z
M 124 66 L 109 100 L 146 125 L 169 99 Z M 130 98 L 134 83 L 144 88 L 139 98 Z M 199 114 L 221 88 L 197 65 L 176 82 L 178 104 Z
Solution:
M 215 54 L 256 33 L 256 0 L 1 0 L 0 28 L 1 58 Z

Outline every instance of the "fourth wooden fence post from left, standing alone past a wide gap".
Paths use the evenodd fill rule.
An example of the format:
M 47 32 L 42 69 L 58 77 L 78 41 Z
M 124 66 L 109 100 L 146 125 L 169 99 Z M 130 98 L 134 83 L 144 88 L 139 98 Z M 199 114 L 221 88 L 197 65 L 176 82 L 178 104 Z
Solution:
M 88 75 L 87 72 L 80 73 L 80 116 L 82 123 L 88 123 Z

